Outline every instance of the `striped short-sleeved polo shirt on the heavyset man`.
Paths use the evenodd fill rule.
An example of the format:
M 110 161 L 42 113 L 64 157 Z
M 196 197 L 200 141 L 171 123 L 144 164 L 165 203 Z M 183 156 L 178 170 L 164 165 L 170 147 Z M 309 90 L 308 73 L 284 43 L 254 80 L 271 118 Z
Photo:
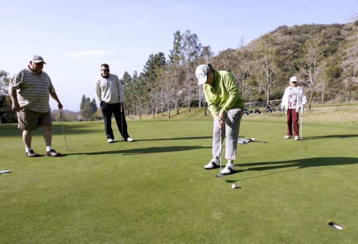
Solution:
M 51 110 L 49 98 L 55 89 L 45 72 L 37 75 L 29 68 L 23 69 L 10 80 L 9 88 L 16 89 L 20 107 L 40 113 Z

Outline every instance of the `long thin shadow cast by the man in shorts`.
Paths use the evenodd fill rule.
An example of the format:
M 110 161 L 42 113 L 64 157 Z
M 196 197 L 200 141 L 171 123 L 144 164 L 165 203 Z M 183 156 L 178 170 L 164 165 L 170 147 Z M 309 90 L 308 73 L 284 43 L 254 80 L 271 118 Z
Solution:
M 100 152 L 79 152 L 79 153 L 68 153 L 63 154 L 67 155 L 102 155 L 102 154 L 122 154 L 122 155 L 132 155 L 132 154 L 147 154 L 147 153 L 158 153 L 158 152 L 179 152 L 179 151 L 188 151 L 188 150 L 197 150 L 197 149 L 208 149 L 211 147 L 203 146 L 166 146 L 166 147 L 144 147 L 144 148 L 135 148 L 135 149 L 123 149 L 123 150 L 113 150 L 113 151 L 100 151 Z

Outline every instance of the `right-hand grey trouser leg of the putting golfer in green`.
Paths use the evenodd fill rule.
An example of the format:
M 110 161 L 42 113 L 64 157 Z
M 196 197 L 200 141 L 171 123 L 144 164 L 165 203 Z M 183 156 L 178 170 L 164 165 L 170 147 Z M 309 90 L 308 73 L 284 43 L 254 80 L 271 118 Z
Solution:
M 242 114 L 243 110 L 240 110 L 239 108 L 230 109 L 226 114 L 225 158 L 227 160 L 236 160 L 237 139 L 239 136 Z

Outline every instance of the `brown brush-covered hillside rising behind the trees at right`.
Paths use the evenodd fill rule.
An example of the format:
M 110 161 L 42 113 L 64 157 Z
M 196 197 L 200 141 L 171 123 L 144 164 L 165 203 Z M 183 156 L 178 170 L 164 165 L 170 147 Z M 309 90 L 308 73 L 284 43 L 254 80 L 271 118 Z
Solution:
M 347 24 L 305 24 L 294 25 L 287 27 L 280 26 L 277 29 L 257 38 L 246 46 L 244 56 L 247 65 L 250 65 L 253 60 L 253 53 L 258 47 L 260 41 L 265 36 L 272 37 L 271 47 L 275 48 L 278 56 L 277 80 L 275 81 L 274 90 L 271 99 L 279 99 L 283 93 L 283 89 L 288 85 L 290 76 L 299 73 L 297 63 L 300 61 L 302 54 L 302 46 L 306 40 L 315 36 L 321 38 L 320 45 L 323 47 L 323 52 L 319 57 L 319 65 L 323 65 L 321 71 L 320 82 L 325 83 L 325 93 L 327 95 L 341 95 L 348 94 L 349 86 L 345 83 L 343 63 L 353 62 L 352 57 L 348 55 L 349 52 L 355 53 L 355 60 L 357 60 L 358 47 L 358 21 Z M 218 69 L 227 69 L 230 65 L 223 65 L 221 60 L 234 59 L 233 57 L 242 55 L 242 50 L 228 49 L 219 53 L 215 59 Z M 220 61 L 218 61 L 220 60 Z M 231 66 L 232 67 L 232 66 Z M 234 69 L 229 71 L 235 72 Z M 357 85 L 351 86 L 352 94 L 357 94 Z M 315 95 L 319 96 L 318 91 Z M 265 98 L 264 95 L 258 94 L 257 98 Z

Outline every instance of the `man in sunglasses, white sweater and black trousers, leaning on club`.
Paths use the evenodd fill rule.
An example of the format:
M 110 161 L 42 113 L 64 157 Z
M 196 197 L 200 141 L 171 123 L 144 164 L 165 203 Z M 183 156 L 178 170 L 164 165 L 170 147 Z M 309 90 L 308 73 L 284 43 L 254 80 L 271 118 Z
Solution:
M 133 141 L 128 135 L 127 122 L 124 115 L 124 97 L 121 81 L 117 75 L 110 74 L 110 67 L 107 64 L 101 65 L 101 75 L 96 79 L 96 96 L 100 103 L 107 142 L 114 142 L 112 130 L 112 114 L 114 115 L 119 132 L 124 141 Z

